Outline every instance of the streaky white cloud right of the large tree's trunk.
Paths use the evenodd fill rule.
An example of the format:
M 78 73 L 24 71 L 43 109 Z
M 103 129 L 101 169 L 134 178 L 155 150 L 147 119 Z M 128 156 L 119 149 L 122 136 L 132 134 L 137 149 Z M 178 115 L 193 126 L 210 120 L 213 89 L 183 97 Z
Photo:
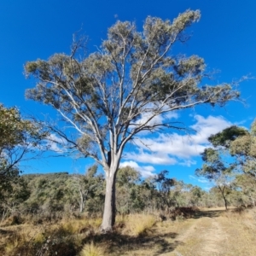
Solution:
M 222 116 L 209 115 L 204 118 L 195 115 L 195 124 L 190 128 L 195 132 L 191 135 L 177 133 L 159 134 L 158 137 L 139 137 L 134 140 L 137 152 L 126 153 L 126 160 L 136 160 L 154 165 L 195 165 L 192 158 L 199 156 L 209 146 L 208 137 L 232 125 Z

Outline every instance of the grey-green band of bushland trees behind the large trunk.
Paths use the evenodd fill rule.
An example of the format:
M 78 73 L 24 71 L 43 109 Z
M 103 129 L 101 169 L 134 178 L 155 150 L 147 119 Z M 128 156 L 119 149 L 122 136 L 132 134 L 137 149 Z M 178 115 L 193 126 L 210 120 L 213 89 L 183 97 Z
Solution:
M 255 197 L 255 183 L 248 194 L 248 183 L 242 188 L 231 186 L 227 190 L 227 201 L 233 206 L 252 204 Z M 254 190 L 253 190 L 254 188 Z M 143 179 L 139 172 L 127 166 L 117 176 L 116 211 L 121 214 L 131 212 L 168 212 L 175 207 L 216 207 L 224 206 L 218 188 L 209 191 L 198 186 L 177 181 L 162 171 L 155 177 Z M 97 166 L 90 167 L 84 175 L 68 172 L 25 174 L 16 178 L 14 185 L 1 195 L 2 218 L 11 214 L 35 214 L 52 216 L 56 213 L 74 214 L 87 212 L 102 215 L 105 180 L 97 173 Z

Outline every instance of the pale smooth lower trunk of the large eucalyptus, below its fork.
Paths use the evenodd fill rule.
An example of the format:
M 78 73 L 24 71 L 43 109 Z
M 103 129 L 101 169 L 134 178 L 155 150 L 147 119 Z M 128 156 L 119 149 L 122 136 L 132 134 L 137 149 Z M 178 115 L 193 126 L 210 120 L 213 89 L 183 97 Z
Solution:
M 115 179 L 116 172 L 110 171 L 108 176 L 106 175 L 106 195 L 101 227 L 101 230 L 104 233 L 112 230 L 113 224 L 115 222 Z

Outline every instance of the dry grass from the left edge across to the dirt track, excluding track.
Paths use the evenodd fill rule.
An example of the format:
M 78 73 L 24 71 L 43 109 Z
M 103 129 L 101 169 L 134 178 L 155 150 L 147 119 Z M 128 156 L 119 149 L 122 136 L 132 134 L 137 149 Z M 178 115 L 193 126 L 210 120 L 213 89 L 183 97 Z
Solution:
M 152 250 L 168 250 L 170 247 L 163 241 L 172 241 L 176 236 L 170 226 L 174 222 L 156 219 L 155 215 L 145 214 L 117 216 L 115 229 L 108 235 L 99 233 L 101 218 L 62 218 L 57 223 L 5 226 L 0 230 L 0 255 L 100 255 L 102 251 L 104 255 L 150 255 Z

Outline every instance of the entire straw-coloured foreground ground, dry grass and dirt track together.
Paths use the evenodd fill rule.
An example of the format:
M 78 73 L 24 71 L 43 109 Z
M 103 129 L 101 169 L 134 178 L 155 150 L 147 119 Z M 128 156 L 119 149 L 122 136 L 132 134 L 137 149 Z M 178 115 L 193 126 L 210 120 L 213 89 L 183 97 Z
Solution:
M 101 218 L 5 226 L 0 255 L 255 255 L 256 209 L 207 209 L 195 217 L 157 221 L 154 215 L 118 216 L 108 235 L 98 231 Z M 219 254 L 207 254 L 215 251 Z

